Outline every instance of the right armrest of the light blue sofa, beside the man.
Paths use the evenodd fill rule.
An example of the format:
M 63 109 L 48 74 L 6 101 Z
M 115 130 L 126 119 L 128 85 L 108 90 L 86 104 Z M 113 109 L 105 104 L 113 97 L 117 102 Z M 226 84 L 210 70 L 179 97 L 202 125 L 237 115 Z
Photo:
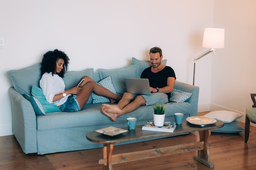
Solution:
M 182 83 L 180 81 L 175 81 L 174 88 L 177 90 L 181 90 L 183 92 L 192 93 L 190 98 L 186 100 L 191 104 L 191 114 L 190 116 L 198 116 L 198 98 L 199 98 L 199 87 L 194 85 L 189 85 L 186 83 Z

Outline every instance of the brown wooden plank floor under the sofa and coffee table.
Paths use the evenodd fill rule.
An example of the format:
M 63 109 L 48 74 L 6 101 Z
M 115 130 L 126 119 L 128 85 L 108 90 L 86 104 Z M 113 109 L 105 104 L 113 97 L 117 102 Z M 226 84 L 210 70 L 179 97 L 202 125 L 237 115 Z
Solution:
M 201 114 L 204 114 L 202 112 Z M 198 113 L 200 115 L 200 113 Z M 240 123 L 243 128 L 244 123 Z M 210 161 L 212 170 L 255 170 L 256 169 L 256 127 L 250 127 L 247 144 L 244 132 L 211 133 Z M 136 144 L 114 146 L 114 153 L 123 153 L 137 148 L 155 148 L 168 144 L 179 144 L 199 140 L 198 132 L 188 135 L 157 139 Z M 197 152 L 134 161 L 113 165 L 114 170 L 210 170 L 193 159 Z M 101 170 L 98 159 L 101 148 L 79 150 L 47 155 L 25 154 L 13 135 L 0 137 L 0 170 Z

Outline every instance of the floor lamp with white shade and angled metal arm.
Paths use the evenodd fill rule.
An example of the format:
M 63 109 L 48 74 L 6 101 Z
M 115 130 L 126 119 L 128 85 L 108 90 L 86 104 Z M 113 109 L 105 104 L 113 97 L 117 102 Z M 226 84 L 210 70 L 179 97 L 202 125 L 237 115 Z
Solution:
M 220 28 L 204 28 L 204 39 L 202 47 L 211 48 L 194 59 L 193 85 L 195 85 L 195 62 L 214 52 L 215 48 L 224 48 L 225 30 Z M 216 53 L 215 53 L 216 55 Z

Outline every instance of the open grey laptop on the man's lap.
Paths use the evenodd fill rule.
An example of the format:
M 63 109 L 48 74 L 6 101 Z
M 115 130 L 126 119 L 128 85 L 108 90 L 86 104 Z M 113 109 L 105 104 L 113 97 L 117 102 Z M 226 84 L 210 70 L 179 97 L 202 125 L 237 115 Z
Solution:
M 151 94 L 148 78 L 124 78 L 124 80 L 127 92 L 132 94 Z

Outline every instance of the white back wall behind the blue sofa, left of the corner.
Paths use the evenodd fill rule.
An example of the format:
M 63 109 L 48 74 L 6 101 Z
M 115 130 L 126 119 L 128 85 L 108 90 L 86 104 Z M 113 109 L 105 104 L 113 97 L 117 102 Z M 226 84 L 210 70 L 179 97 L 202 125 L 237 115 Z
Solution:
M 45 52 L 56 48 L 69 55 L 70 70 L 120 68 L 129 65 L 131 57 L 149 59 L 149 49 L 159 46 L 177 80 L 192 84 L 193 59 L 207 50 L 202 48 L 204 28 L 213 26 L 214 0 L 0 0 L 0 4 L 0 39 L 4 39 L 0 136 L 12 134 L 8 70 L 38 63 Z M 223 50 L 217 52 L 224 55 Z M 211 56 L 199 61 L 197 69 L 199 111 L 209 111 L 214 93 Z

